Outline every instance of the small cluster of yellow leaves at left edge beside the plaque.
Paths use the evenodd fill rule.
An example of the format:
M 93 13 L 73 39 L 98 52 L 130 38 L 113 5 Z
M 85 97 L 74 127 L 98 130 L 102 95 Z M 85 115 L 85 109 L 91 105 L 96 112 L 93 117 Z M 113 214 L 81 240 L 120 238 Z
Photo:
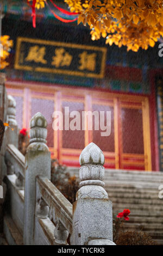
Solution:
M 6 66 L 9 65 L 7 62 L 7 58 L 9 57 L 11 47 L 13 46 L 13 41 L 9 40 L 9 35 L 1 36 L 1 44 L 3 46 L 2 54 L 1 54 L 1 65 L 0 69 L 4 69 Z

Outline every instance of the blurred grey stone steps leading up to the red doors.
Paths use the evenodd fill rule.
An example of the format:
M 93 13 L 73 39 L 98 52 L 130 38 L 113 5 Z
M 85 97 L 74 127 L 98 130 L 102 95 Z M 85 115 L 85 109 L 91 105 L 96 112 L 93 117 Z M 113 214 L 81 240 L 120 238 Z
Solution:
M 77 169 L 69 171 L 76 175 L 79 172 Z M 112 200 L 113 214 L 116 216 L 123 209 L 131 211 L 125 229 L 146 231 L 163 245 L 163 198 L 158 197 L 163 173 L 106 169 L 104 182 Z

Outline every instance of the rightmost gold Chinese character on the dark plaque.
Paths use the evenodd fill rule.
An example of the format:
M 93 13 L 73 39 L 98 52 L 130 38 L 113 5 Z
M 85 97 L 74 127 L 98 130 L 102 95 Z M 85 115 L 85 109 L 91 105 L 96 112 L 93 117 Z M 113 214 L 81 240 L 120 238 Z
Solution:
M 96 53 L 91 53 L 91 54 L 87 54 L 86 51 L 84 51 L 83 53 L 79 54 L 79 69 L 80 70 L 90 70 L 90 71 L 95 71 L 96 68 Z

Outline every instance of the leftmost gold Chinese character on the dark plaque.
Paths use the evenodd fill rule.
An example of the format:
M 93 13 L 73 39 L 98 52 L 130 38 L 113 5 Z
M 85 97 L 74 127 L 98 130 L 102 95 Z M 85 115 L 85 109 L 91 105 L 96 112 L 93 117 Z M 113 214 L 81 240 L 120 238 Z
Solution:
M 28 56 L 26 57 L 27 62 L 36 62 L 36 63 L 42 63 L 47 64 L 47 60 L 43 59 L 46 54 L 46 48 L 45 47 L 39 47 L 37 45 L 32 46 L 29 48 Z

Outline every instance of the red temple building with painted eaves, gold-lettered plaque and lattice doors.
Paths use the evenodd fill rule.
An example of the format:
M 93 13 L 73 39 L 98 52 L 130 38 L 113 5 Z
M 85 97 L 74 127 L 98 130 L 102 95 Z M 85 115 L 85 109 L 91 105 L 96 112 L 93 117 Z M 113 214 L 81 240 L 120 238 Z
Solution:
M 30 119 L 41 112 L 48 122 L 51 156 L 66 166 L 78 167 L 80 153 L 94 142 L 107 169 L 162 171 L 160 42 L 146 51 L 127 52 L 126 47 L 105 45 L 104 39 L 92 41 L 87 27 L 58 21 L 47 7 L 37 11 L 33 28 L 24 2 L 5 0 L 2 20 L 2 35 L 14 40 L 5 73 L 19 129 L 29 129 Z M 110 135 L 101 136 L 95 123 L 89 130 L 88 119 L 85 130 L 53 130 L 54 111 L 64 115 L 65 107 L 79 113 L 110 111 Z

